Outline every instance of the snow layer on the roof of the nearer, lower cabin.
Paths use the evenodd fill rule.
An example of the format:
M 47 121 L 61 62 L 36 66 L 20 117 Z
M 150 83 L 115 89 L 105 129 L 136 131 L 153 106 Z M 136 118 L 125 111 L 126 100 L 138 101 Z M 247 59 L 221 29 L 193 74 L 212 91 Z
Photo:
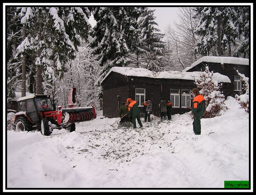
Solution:
M 106 79 L 106 77 L 111 73 L 116 72 L 126 76 L 139 76 L 139 77 L 149 77 L 149 78 L 166 78 L 166 79 L 185 79 L 185 80 L 195 80 L 202 72 L 180 72 L 180 71 L 162 71 L 153 72 L 145 68 L 132 68 L 132 67 L 112 67 L 110 71 L 103 78 L 101 83 Z M 218 82 L 231 83 L 230 79 L 220 73 L 213 73 L 213 79 Z

